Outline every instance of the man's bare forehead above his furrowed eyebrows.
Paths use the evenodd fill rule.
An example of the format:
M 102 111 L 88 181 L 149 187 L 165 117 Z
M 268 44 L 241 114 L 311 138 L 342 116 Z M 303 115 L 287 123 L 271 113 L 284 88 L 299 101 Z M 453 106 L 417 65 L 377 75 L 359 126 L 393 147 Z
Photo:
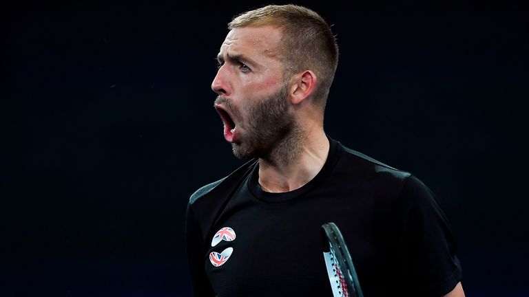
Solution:
M 220 54 L 245 54 L 253 58 L 278 58 L 281 31 L 271 26 L 234 28 L 220 47 Z

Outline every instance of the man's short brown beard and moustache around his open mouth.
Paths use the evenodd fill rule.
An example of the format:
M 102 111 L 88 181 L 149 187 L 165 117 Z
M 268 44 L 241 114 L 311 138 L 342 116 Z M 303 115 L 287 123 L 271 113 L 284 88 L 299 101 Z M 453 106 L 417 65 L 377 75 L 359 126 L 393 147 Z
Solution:
M 233 109 L 229 100 L 219 96 L 217 102 L 242 115 Z M 240 159 L 258 157 L 272 164 L 288 164 L 301 153 L 303 133 L 288 102 L 286 85 L 248 107 L 238 125 L 240 137 L 231 147 Z

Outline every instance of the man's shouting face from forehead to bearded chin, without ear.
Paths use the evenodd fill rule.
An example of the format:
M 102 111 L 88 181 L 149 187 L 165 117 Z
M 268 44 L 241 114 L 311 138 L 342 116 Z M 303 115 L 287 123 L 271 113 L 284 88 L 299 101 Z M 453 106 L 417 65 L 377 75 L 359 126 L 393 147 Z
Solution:
M 224 137 L 237 157 L 263 157 L 295 128 L 278 45 L 271 27 L 236 28 L 220 47 L 211 84 Z

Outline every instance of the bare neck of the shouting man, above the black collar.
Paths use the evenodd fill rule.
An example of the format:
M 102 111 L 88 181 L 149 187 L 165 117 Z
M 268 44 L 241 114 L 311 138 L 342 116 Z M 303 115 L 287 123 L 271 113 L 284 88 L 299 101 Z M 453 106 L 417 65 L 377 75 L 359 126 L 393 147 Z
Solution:
M 323 128 L 314 126 L 295 138 L 292 141 L 297 145 L 279 145 L 293 150 L 290 153 L 278 149 L 271 154 L 276 157 L 259 159 L 259 184 L 263 190 L 289 192 L 301 188 L 322 169 L 329 155 L 329 140 Z

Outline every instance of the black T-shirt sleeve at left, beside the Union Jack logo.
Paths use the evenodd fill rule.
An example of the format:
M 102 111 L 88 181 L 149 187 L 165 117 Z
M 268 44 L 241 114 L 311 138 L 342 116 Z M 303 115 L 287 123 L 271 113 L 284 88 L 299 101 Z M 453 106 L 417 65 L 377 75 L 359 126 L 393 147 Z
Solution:
M 203 254 L 202 230 L 196 220 L 191 204 L 187 206 L 186 212 L 185 241 L 194 296 L 215 296 L 204 267 L 205 257 Z

